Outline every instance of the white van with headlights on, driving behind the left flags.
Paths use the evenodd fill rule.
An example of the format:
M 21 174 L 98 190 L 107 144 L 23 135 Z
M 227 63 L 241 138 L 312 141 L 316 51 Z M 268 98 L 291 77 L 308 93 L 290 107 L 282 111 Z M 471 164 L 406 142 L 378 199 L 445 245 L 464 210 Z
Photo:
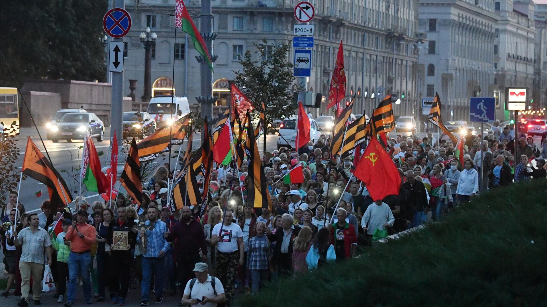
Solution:
M 190 113 L 190 105 L 186 97 L 156 96 L 150 99 L 147 112 L 159 128 Z

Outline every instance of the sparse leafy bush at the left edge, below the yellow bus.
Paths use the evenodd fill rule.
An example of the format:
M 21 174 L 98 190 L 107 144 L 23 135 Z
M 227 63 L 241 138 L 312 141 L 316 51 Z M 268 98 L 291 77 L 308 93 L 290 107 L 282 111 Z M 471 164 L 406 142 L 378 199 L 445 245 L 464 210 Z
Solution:
M 3 127 L 0 125 L 0 127 Z M 15 190 L 17 181 L 21 174 L 15 167 L 15 161 L 19 155 L 19 147 L 16 146 L 15 133 L 17 126 L 15 122 L 12 125 L 3 127 L 0 131 L 0 204 L 7 203 L 8 192 Z

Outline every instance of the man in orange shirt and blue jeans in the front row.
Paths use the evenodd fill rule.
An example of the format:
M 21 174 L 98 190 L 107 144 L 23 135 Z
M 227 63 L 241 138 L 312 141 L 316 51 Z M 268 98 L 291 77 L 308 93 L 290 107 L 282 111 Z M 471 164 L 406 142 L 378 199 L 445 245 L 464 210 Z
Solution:
M 91 280 L 89 276 L 89 265 L 91 263 L 91 245 L 95 244 L 97 231 L 95 227 L 86 223 L 88 212 L 80 210 L 76 214 L 76 221 L 68 228 L 65 239 L 70 241 L 71 253 L 68 256 L 68 298 L 66 307 L 74 306 L 76 298 L 76 283 L 78 274 L 82 276 L 84 283 L 85 303 L 91 304 Z

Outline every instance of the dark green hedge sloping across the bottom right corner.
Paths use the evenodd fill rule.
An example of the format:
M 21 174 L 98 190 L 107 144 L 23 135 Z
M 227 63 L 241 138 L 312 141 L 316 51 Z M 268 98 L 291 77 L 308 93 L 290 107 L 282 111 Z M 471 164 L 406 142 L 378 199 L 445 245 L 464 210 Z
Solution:
M 547 181 L 476 197 L 361 258 L 282 279 L 236 306 L 546 306 Z

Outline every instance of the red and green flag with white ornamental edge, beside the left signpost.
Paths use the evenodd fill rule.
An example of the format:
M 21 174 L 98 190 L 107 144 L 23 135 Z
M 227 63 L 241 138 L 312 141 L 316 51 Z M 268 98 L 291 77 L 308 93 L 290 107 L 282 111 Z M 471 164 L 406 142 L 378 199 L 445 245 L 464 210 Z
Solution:
M 84 154 L 82 158 L 82 183 L 88 188 L 88 191 L 102 194 L 108 189 L 106 176 L 101 171 L 101 161 L 93 144 L 93 139 L 88 134 L 84 143 Z

